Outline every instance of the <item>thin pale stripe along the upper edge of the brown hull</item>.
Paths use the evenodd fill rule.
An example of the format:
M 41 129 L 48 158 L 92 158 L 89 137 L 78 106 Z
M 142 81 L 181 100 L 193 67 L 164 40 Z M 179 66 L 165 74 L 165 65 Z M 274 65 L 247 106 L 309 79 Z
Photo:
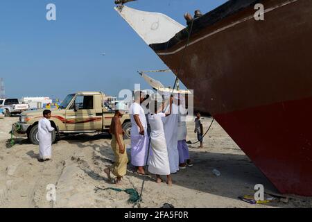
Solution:
M 277 8 L 281 8 L 281 7 L 287 6 L 288 4 L 294 3 L 295 1 L 298 1 L 298 0 L 291 0 L 291 1 L 288 1 L 288 2 L 286 2 L 286 3 L 281 4 L 281 5 L 279 5 L 279 6 L 275 6 L 275 7 L 273 7 L 273 8 L 268 8 L 267 10 L 264 10 L 263 14 L 265 14 L 265 13 L 267 13 L 267 12 L 270 12 L 270 11 L 272 11 L 272 10 L 275 10 L 275 9 L 277 9 Z M 250 16 L 250 17 L 247 17 L 247 18 L 245 18 L 245 19 L 241 19 L 241 20 L 239 20 L 238 22 L 234 22 L 234 23 L 232 23 L 232 24 L 230 24 L 230 25 L 228 25 L 228 26 L 225 26 L 225 27 L 223 27 L 223 28 L 219 28 L 218 30 L 216 30 L 216 31 L 214 31 L 214 32 L 212 32 L 212 33 L 209 33 L 209 34 L 207 34 L 207 35 L 205 35 L 205 36 L 203 36 L 203 37 L 198 38 L 197 40 L 194 40 L 193 42 L 189 43 L 188 46 L 191 46 L 192 44 L 195 44 L 195 43 L 197 43 L 197 42 L 200 42 L 201 40 L 204 40 L 205 38 L 210 37 L 211 35 L 215 35 L 216 33 L 220 33 L 220 32 L 222 32 L 222 31 L 225 31 L 227 28 L 232 28 L 232 27 L 234 27 L 234 26 L 236 26 L 236 25 L 238 25 L 238 24 L 241 24 L 241 23 L 243 23 L 243 22 L 246 22 L 246 21 L 248 21 L 248 20 L 250 20 L 250 19 L 254 19 L 254 15 L 252 15 L 252 16 Z M 177 50 L 175 50 L 175 51 L 167 52 L 167 53 L 157 53 L 157 55 L 159 55 L 159 56 L 172 55 L 172 54 L 177 53 L 178 51 L 181 51 L 181 50 L 184 49 L 184 48 L 185 48 L 185 46 L 181 46 L 179 49 L 177 49 Z

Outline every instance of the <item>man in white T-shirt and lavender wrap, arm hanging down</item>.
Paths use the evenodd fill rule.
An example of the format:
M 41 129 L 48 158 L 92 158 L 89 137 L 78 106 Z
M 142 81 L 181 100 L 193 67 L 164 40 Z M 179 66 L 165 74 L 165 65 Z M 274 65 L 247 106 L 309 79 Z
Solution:
M 145 95 L 141 91 L 135 92 L 135 102 L 130 106 L 131 119 L 131 164 L 136 167 L 137 173 L 145 174 L 144 166 L 148 156 L 147 121 L 141 103 L 145 101 Z

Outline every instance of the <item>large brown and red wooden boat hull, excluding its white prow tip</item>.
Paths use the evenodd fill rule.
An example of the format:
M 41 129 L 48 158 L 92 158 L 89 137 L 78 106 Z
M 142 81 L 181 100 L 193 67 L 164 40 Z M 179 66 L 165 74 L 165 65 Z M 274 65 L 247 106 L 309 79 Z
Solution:
M 281 193 L 312 196 L 312 0 L 257 2 L 265 21 L 253 5 L 200 24 L 218 9 L 185 52 L 185 31 L 150 46 Z

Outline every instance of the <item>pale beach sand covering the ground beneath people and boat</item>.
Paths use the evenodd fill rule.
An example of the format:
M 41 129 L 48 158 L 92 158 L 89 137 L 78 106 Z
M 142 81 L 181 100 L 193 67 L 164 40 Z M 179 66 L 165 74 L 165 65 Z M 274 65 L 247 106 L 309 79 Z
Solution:
M 104 190 L 116 187 L 107 181 L 103 171 L 114 160 L 107 135 L 62 137 L 53 144 L 53 160 L 40 163 L 38 146 L 23 137 L 15 137 L 17 144 L 6 147 L 15 121 L 17 117 L 0 119 L 0 207 L 133 207 L 125 192 Z M 204 128 L 210 122 L 210 118 L 205 118 Z M 193 122 L 188 123 L 187 139 L 196 141 L 193 127 Z M 300 196 L 287 196 L 288 203 L 277 199 L 266 205 L 239 200 L 241 195 L 253 195 L 256 184 L 264 185 L 266 191 L 278 192 L 217 122 L 204 139 L 205 148 L 197 146 L 189 149 L 194 166 L 174 174 L 172 187 L 146 177 L 140 207 L 159 208 L 164 203 L 174 207 L 312 207 L 312 198 Z M 221 175 L 215 176 L 214 169 Z M 117 188 L 140 191 L 142 180 L 143 176 L 133 173 L 129 165 L 123 185 Z M 46 199 L 46 186 L 50 184 L 56 187 L 56 201 Z

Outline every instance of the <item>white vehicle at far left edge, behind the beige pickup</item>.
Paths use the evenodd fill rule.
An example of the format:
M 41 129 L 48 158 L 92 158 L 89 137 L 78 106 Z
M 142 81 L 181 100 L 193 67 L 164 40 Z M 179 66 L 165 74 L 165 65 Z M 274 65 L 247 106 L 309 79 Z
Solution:
M 12 114 L 21 114 L 29 110 L 29 105 L 20 104 L 18 99 L 0 99 L 0 108 L 4 110 L 6 117 L 10 117 Z

